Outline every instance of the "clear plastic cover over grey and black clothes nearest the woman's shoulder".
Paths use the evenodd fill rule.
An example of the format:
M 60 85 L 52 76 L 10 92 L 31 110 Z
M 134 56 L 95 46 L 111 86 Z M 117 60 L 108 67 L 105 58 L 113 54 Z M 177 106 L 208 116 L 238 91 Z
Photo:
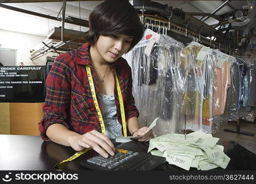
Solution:
M 182 43 L 162 34 L 150 56 L 145 55 L 145 47 L 135 47 L 125 56 L 132 67 L 140 126 L 149 126 L 159 117 L 154 136 L 176 132 L 176 125 L 182 122 L 184 87 L 179 70 L 182 48 Z

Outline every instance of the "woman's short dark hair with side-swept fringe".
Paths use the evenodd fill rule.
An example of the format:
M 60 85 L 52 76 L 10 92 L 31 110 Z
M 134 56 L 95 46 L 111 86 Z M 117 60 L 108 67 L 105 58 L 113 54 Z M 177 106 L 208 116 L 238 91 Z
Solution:
M 143 37 L 143 25 L 138 13 L 127 0 L 107 0 L 95 7 L 89 16 L 90 45 L 95 45 L 100 35 L 124 34 L 133 36 L 129 50 Z

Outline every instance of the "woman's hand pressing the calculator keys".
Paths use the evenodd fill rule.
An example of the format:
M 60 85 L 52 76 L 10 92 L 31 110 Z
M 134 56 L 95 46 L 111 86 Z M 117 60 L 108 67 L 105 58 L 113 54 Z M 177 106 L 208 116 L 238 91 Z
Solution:
M 84 148 L 92 148 L 105 158 L 108 158 L 108 154 L 113 156 L 115 151 L 111 140 L 96 130 L 82 135 L 72 135 L 69 137 L 68 142 L 76 151 L 84 150 Z

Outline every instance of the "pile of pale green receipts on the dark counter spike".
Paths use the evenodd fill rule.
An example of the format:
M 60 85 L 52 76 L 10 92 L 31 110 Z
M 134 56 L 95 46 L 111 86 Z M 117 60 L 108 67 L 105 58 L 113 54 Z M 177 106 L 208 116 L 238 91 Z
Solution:
M 217 167 L 226 169 L 230 158 L 223 152 L 222 145 L 216 145 L 219 138 L 212 137 L 202 131 L 183 134 L 165 134 L 150 140 L 152 155 L 164 156 L 169 164 L 182 167 L 187 171 L 190 167 L 207 171 Z M 156 149 L 154 149 L 156 148 Z

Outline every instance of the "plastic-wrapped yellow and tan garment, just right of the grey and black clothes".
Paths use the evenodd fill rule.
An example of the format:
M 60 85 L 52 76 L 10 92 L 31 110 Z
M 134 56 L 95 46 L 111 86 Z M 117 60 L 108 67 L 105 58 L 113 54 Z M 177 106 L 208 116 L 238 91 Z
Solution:
M 196 60 L 202 45 L 190 44 L 181 53 L 181 70 L 185 86 L 184 121 L 186 129 L 196 131 L 202 125 L 202 68 L 203 63 Z M 185 123 L 185 122 L 184 122 Z M 183 127 L 180 127 L 183 129 Z

